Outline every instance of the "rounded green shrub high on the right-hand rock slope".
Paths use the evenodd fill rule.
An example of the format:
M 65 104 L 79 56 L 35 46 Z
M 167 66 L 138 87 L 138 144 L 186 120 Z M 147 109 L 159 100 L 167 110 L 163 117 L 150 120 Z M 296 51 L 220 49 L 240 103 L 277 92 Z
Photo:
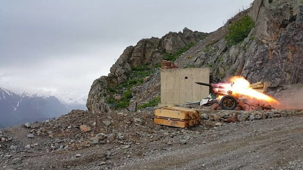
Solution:
M 229 27 L 228 34 L 225 36 L 227 45 L 233 46 L 241 42 L 248 36 L 251 30 L 254 28 L 254 21 L 250 16 L 244 16 L 238 22 L 232 24 Z

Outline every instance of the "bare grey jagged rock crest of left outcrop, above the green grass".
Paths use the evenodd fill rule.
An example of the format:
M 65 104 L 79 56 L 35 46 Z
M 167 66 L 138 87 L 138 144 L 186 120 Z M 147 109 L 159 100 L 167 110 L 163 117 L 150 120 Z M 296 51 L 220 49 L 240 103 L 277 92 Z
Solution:
M 141 39 L 136 46 L 127 47 L 110 68 L 108 76 L 102 76 L 92 83 L 86 103 L 88 110 L 110 112 L 110 107 L 106 103 L 106 98 L 109 95 L 108 87 L 125 82 L 131 67 L 157 65 L 161 62 L 165 53 L 175 53 L 188 44 L 197 43 L 206 35 L 207 33 L 194 32 L 184 28 L 183 32 L 169 32 L 162 38 Z

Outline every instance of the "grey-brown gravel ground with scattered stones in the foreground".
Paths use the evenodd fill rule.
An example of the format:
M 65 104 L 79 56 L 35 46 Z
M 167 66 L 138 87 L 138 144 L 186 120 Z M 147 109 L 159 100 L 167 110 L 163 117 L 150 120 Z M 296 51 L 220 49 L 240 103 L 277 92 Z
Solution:
M 8 139 L 0 142 L 0 169 L 302 169 L 303 114 L 297 113 L 272 119 L 220 122 L 216 126 L 215 121 L 203 121 L 201 126 L 191 129 L 154 125 L 153 114 L 136 113 L 128 116 L 137 118 L 141 114 L 145 123 L 129 123 L 123 132 L 126 123 L 117 119 L 121 121 L 120 127 L 116 117 L 110 115 L 112 125 L 97 125 L 92 131 L 104 128 L 100 131 L 122 132 L 125 139 L 119 140 L 116 135 L 112 141 L 98 144 L 88 143 L 91 132 L 67 127 L 78 125 L 68 120 L 79 113 L 70 114 L 34 129 L 34 134 L 40 129 L 53 129 L 52 136 L 35 135 L 29 139 L 27 134 L 34 130 L 23 126 L 0 130 L 2 137 Z M 90 114 L 87 116 L 91 119 Z M 55 124 L 59 125 L 54 129 Z M 78 137 L 72 137 L 73 133 Z M 52 150 L 57 138 L 64 138 L 62 145 L 69 147 Z M 31 144 L 28 150 L 24 149 L 27 144 Z M 16 149 L 11 150 L 11 145 Z

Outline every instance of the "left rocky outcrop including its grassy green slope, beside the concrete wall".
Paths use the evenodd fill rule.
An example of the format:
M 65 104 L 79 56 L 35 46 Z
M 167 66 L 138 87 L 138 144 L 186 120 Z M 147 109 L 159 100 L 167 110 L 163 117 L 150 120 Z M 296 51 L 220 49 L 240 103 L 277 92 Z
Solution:
M 95 112 L 127 107 L 132 98 L 132 87 L 144 81 L 144 77 L 156 72 L 162 59 L 175 60 L 208 34 L 192 31 L 169 32 L 162 38 L 141 39 L 136 46 L 127 47 L 108 76 L 92 83 L 87 108 Z

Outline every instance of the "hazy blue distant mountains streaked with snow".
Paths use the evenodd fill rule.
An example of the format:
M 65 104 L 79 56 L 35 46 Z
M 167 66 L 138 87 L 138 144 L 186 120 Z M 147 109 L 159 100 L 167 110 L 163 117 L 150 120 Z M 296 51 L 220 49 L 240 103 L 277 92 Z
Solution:
M 0 128 L 44 121 L 65 115 L 73 109 L 87 110 L 84 104 L 63 104 L 54 96 L 20 95 L 0 88 Z

